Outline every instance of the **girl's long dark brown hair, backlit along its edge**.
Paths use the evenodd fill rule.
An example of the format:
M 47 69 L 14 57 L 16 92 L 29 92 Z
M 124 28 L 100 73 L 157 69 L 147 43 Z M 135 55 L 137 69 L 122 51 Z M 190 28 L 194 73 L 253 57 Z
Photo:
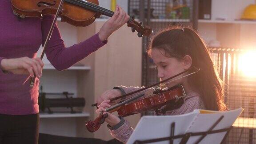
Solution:
M 208 110 L 224 111 L 223 81 L 212 62 L 204 41 L 191 28 L 169 27 L 152 37 L 148 47 L 151 56 L 153 48 L 165 51 L 168 57 L 181 60 L 184 56 L 192 57 L 192 66 L 201 70 L 188 77 L 188 83 L 200 93 L 204 106 Z

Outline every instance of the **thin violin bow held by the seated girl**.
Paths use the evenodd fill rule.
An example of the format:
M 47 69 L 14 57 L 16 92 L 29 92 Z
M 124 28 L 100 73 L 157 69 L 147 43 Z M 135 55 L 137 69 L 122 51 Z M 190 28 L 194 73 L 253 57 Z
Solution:
M 194 74 L 194 73 L 196 73 L 196 72 L 199 72 L 199 71 L 200 71 L 200 68 L 191 67 L 191 68 L 185 70 L 184 72 L 180 72 L 180 73 L 176 74 L 175 76 L 169 77 L 168 79 L 162 80 L 162 81 L 160 81 L 160 82 L 158 82 L 158 83 L 156 83 L 156 84 L 152 84 L 152 85 L 150 85 L 150 86 L 148 86 L 148 87 L 141 88 L 141 89 L 136 90 L 136 91 L 134 91 L 134 92 L 130 92 L 130 93 L 127 93 L 127 94 L 125 94 L 125 95 L 117 96 L 117 97 L 115 97 L 115 98 L 112 98 L 112 99 L 110 99 L 110 102 L 112 102 L 113 100 L 117 100 L 117 99 L 120 99 L 120 98 L 124 98 L 124 97 L 130 96 L 130 95 L 135 94 L 135 93 L 137 93 L 137 92 L 144 91 L 145 89 L 152 88 L 152 87 L 154 87 L 154 86 L 156 86 L 156 85 L 159 85 L 159 84 L 162 84 L 162 83 L 164 83 L 164 82 L 168 82 L 168 83 L 169 83 L 169 82 L 172 82 L 172 81 L 174 81 L 174 80 L 179 80 L 179 79 L 181 79 L 181 78 L 183 78 L 183 77 L 186 77 L 186 76 L 182 76 L 182 77 L 179 77 L 179 78 L 174 79 L 174 80 L 172 80 L 172 79 L 173 79 L 173 78 L 176 78 L 177 76 L 180 76 L 180 75 L 184 74 L 185 72 L 188 72 L 189 70 L 194 70 L 194 72 L 191 72 L 191 73 L 189 73 L 189 74 L 186 75 L 186 76 L 189 76 L 189 75 L 192 75 L 192 74 Z M 169 81 L 169 80 L 171 80 L 171 81 Z M 92 107 L 93 107 L 93 106 L 97 106 L 97 104 L 98 104 L 98 103 L 92 104 Z

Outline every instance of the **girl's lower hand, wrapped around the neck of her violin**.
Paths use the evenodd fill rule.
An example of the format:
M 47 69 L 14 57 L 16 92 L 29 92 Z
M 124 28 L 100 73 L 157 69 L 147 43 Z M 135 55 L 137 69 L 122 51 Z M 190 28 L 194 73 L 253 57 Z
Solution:
M 96 113 L 98 115 L 100 115 L 100 113 L 103 112 L 103 114 L 108 114 L 108 117 L 105 118 L 105 122 L 108 123 L 110 126 L 115 126 L 116 124 L 120 123 L 120 118 L 109 113 L 109 112 L 105 112 L 106 111 L 106 107 L 110 108 L 111 105 L 109 104 L 110 100 L 104 100 L 100 105 L 99 108 L 96 110 Z

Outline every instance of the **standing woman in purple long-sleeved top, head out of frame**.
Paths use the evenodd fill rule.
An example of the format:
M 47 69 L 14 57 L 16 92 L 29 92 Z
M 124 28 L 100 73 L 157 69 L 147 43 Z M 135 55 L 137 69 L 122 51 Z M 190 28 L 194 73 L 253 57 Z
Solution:
M 38 141 L 38 85 L 43 62 L 36 52 L 44 43 L 54 16 L 19 19 L 11 1 L 0 0 L 0 143 L 36 144 Z M 108 37 L 125 24 L 129 16 L 119 6 L 89 39 L 65 48 L 57 25 L 46 48 L 46 56 L 57 70 L 69 68 L 107 43 Z M 36 78 L 31 88 L 28 75 Z

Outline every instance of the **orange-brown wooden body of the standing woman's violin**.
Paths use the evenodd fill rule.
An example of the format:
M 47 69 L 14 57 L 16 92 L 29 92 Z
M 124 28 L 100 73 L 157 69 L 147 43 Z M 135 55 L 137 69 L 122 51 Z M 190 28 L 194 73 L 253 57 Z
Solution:
M 61 21 L 77 27 L 85 27 L 94 22 L 100 14 L 75 4 L 66 2 L 60 10 Z M 72 0 L 71 0 L 72 1 Z M 98 0 L 88 0 L 99 5 Z M 42 17 L 47 14 L 56 14 L 60 0 L 12 0 L 14 14 L 21 17 Z

